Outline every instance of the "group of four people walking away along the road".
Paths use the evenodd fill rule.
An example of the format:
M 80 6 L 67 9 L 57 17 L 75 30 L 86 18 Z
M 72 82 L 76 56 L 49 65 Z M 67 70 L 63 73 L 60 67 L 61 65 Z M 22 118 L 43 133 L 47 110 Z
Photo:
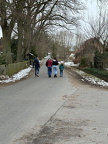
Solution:
M 64 64 L 63 61 L 61 61 L 61 63 L 58 63 L 58 60 L 56 58 L 54 58 L 53 60 L 51 58 L 49 58 L 46 61 L 46 67 L 47 67 L 47 72 L 48 72 L 48 77 L 50 78 L 52 76 L 52 71 L 54 74 L 54 78 L 57 77 L 57 73 L 58 73 L 58 65 L 59 65 L 59 70 L 60 70 L 60 77 L 63 76 L 63 70 L 64 70 Z M 40 63 L 38 60 L 38 57 L 36 57 L 34 59 L 33 62 L 33 68 L 35 68 L 35 77 L 39 77 L 39 69 L 40 69 Z

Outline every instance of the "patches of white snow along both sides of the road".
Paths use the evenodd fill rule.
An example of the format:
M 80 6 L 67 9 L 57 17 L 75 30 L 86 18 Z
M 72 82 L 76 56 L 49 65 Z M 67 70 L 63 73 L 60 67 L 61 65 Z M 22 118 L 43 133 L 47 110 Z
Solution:
M 76 65 L 73 62 L 64 62 L 64 65 L 67 67 L 71 67 L 71 66 L 77 67 L 79 64 Z M 18 81 L 18 80 L 26 77 L 29 74 L 29 72 L 31 71 L 31 69 L 32 69 L 32 67 L 28 67 L 26 69 L 23 69 L 23 70 L 19 71 L 17 74 L 14 74 L 12 77 L 8 78 L 7 80 L 0 80 L 0 83 L 9 83 L 9 82 Z M 103 86 L 103 87 L 108 87 L 108 82 L 105 82 L 104 80 L 101 80 L 101 79 L 99 79 L 93 75 L 87 74 L 81 70 L 76 70 L 76 72 L 83 79 L 86 79 L 87 81 L 91 82 L 92 84 L 96 84 L 96 85 Z

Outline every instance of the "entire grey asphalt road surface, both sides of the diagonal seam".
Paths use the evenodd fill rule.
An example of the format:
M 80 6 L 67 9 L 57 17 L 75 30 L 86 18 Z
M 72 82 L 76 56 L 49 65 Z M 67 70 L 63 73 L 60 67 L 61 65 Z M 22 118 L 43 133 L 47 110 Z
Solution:
M 108 89 L 39 76 L 0 87 L 0 144 L 108 144 Z

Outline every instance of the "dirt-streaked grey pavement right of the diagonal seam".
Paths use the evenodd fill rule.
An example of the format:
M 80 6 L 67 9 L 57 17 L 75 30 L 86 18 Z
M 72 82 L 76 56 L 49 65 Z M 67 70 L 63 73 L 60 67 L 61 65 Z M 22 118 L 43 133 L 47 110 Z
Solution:
M 81 82 L 69 71 L 76 91 L 32 142 L 28 137 L 24 144 L 108 144 L 108 90 Z

